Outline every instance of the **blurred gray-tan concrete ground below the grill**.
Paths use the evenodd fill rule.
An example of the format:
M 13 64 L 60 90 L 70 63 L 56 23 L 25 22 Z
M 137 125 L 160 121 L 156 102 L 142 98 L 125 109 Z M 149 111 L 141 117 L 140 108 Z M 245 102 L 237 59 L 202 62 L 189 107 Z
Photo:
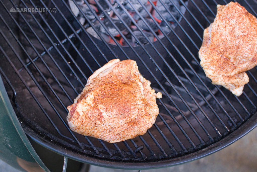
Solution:
M 163 172 L 174 171 L 197 171 L 197 172 L 230 172 L 230 171 L 257 171 L 257 128 L 247 134 L 245 137 L 227 148 L 202 158 L 197 161 L 186 163 L 179 166 L 162 169 Z M 0 172 L 17 172 L 16 169 L 5 164 L 0 160 Z M 137 170 L 109 169 L 97 166 L 91 166 L 89 172 L 122 172 Z M 154 172 L 157 170 L 142 170 L 142 172 Z

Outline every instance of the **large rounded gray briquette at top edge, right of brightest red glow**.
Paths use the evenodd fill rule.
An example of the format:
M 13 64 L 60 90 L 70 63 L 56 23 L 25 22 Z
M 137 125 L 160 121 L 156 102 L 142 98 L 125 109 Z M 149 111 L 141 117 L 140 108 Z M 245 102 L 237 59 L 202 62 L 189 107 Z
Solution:
M 176 10 L 173 4 L 175 4 L 178 8 L 180 7 L 179 2 L 177 0 L 172 0 L 173 4 L 170 2 L 170 0 L 162 0 L 164 5 L 167 7 L 167 9 L 170 10 L 171 14 L 178 19 L 179 18 L 179 12 Z M 163 18 L 167 21 L 175 22 L 175 20 L 171 17 L 171 15 L 168 13 L 168 11 L 164 8 L 164 6 L 160 3 L 160 1 L 157 1 L 156 4 L 157 9 L 163 16 Z M 162 20 L 161 16 L 154 11 L 154 15 L 157 19 Z

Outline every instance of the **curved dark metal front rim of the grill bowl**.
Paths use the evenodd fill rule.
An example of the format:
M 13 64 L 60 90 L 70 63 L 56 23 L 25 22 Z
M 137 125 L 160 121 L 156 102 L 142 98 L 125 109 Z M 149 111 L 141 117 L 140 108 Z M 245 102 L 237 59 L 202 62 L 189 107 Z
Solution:
M 116 160 L 106 160 L 106 159 L 90 157 L 88 155 L 87 155 L 87 158 L 85 159 L 85 155 L 80 154 L 80 156 L 78 156 L 78 154 L 74 151 L 67 150 L 62 146 L 53 144 L 53 142 L 50 143 L 49 140 L 43 139 L 42 137 L 38 137 L 37 134 L 35 134 L 35 132 L 30 132 L 31 129 L 27 130 L 27 127 L 23 125 L 23 123 L 21 125 L 25 133 L 33 141 L 64 157 L 68 157 L 70 159 L 73 159 L 79 162 L 88 163 L 90 165 L 95 165 L 100 167 L 141 170 L 141 169 L 166 168 L 166 167 L 171 167 L 175 165 L 181 165 L 183 163 L 191 162 L 191 161 L 206 157 L 221 149 L 224 149 L 227 146 L 239 140 L 240 138 L 242 138 L 243 136 L 245 136 L 246 134 L 248 134 L 249 132 L 251 132 L 255 127 L 257 127 L 257 112 L 255 112 L 249 119 L 245 120 L 245 122 L 241 124 L 241 126 L 238 127 L 236 130 L 234 130 L 232 133 L 226 135 L 221 140 L 201 150 L 198 150 L 183 156 L 178 156 L 175 158 L 159 159 L 158 161 L 148 161 L 148 162 L 136 162 L 136 161 L 124 162 L 124 161 L 116 161 Z M 39 140 L 41 140 L 41 142 Z M 161 161 L 161 163 L 159 161 Z

